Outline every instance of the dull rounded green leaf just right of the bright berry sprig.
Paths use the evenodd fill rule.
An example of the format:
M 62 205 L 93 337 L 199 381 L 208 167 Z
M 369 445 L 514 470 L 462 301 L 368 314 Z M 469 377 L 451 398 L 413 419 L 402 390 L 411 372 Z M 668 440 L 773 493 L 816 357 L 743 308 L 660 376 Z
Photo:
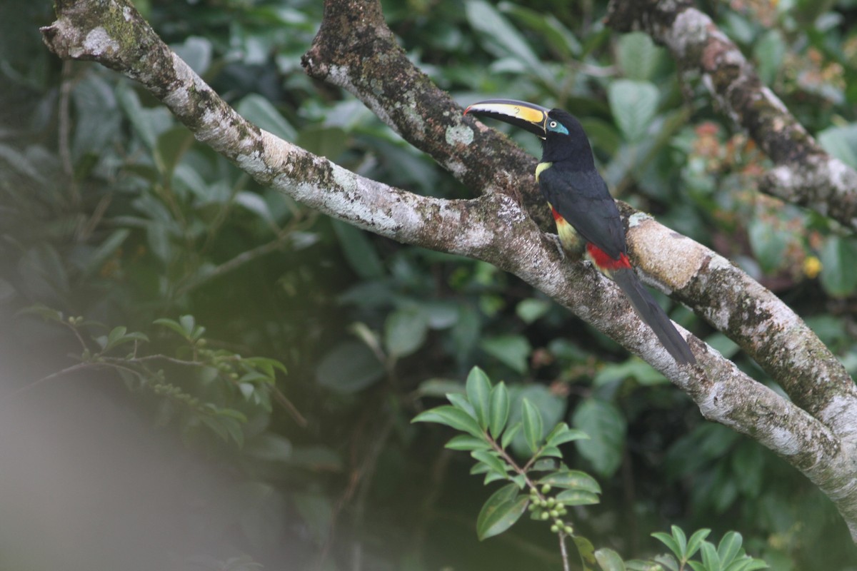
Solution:
M 596 473 L 609 478 L 620 467 L 625 449 L 625 419 L 610 402 L 586 399 L 574 411 L 573 424 L 590 436 L 578 440 L 580 455 L 592 463 Z

